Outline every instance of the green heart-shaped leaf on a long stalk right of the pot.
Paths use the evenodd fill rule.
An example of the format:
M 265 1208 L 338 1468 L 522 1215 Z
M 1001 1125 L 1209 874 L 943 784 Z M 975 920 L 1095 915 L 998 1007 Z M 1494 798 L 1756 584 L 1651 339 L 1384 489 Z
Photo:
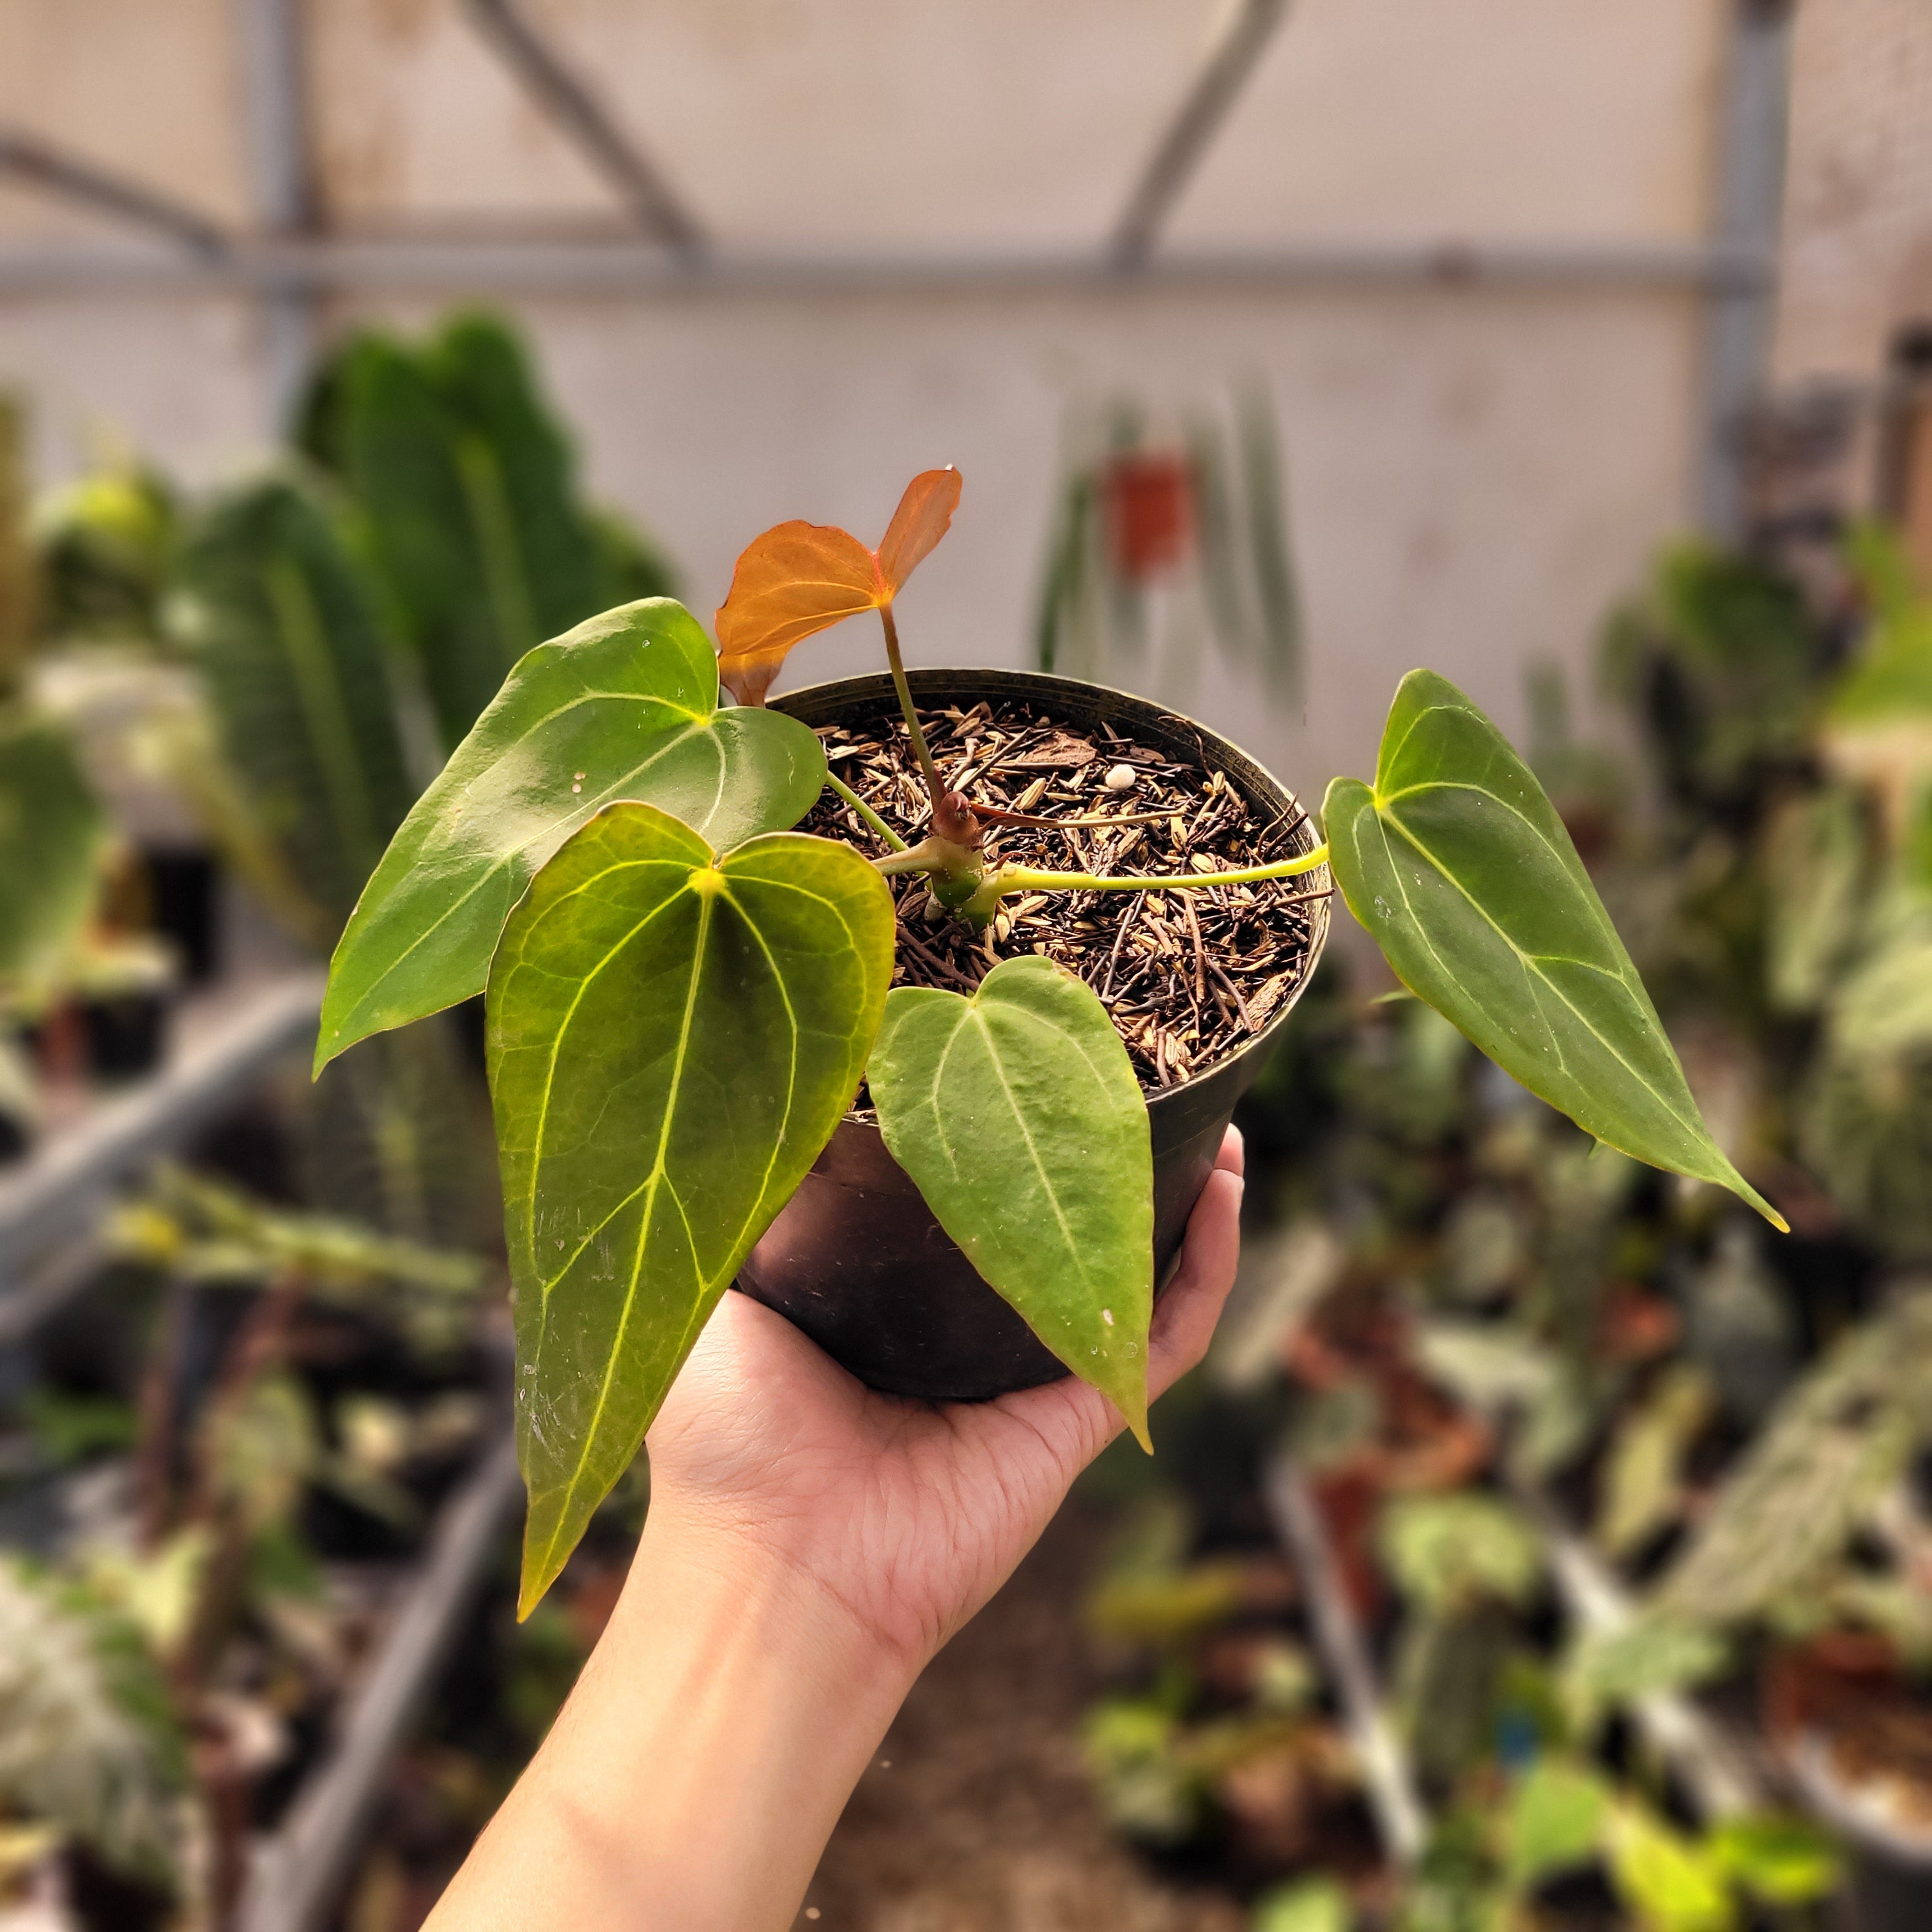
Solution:
M 1710 1138 L 1544 788 L 1447 678 L 1403 678 L 1374 790 L 1337 779 L 1321 815 L 1349 910 L 1403 985 L 1584 1132 L 1785 1225 Z

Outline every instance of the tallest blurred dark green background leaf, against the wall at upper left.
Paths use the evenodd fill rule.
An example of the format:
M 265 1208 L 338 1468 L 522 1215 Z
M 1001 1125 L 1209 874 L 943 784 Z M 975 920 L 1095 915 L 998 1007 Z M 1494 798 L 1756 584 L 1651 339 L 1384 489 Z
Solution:
M 495 317 L 458 315 L 419 346 L 354 336 L 315 379 L 301 442 L 357 504 L 450 748 L 526 651 L 672 589 L 645 545 L 578 498 L 570 442 Z

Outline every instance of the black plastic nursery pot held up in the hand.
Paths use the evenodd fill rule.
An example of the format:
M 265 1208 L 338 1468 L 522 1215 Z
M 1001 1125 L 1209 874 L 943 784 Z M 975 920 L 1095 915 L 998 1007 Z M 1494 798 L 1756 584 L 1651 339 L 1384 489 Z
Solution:
M 1080 730 L 1109 724 L 1177 763 L 1221 771 L 1265 819 L 1296 811 L 1294 794 L 1244 752 L 1140 697 L 1032 670 L 914 670 L 910 682 L 922 711 L 1018 699 L 1061 724 Z M 813 684 L 775 697 L 771 707 L 811 726 L 898 715 L 893 680 L 883 672 Z M 1289 842 L 1296 852 L 1312 852 L 1314 827 L 1302 821 Z M 1327 900 L 1308 910 L 1300 981 L 1267 1026 L 1206 1072 L 1148 1097 L 1159 1285 L 1180 1252 L 1235 1103 L 1260 1074 L 1321 956 Z M 1066 1374 L 952 1244 L 867 1121 L 840 1122 L 804 1186 L 753 1248 L 736 1287 L 777 1308 L 860 1381 L 893 1395 L 985 1401 Z

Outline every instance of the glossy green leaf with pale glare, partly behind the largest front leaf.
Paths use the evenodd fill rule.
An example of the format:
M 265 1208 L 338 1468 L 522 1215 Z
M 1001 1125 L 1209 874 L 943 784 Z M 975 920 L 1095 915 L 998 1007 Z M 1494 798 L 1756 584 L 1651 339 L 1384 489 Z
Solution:
M 483 991 L 537 867 L 616 798 L 730 848 L 796 825 L 825 748 L 779 711 L 717 705 L 717 655 L 668 597 L 605 611 L 526 653 L 417 800 L 336 947 L 315 1043 L 344 1047 Z

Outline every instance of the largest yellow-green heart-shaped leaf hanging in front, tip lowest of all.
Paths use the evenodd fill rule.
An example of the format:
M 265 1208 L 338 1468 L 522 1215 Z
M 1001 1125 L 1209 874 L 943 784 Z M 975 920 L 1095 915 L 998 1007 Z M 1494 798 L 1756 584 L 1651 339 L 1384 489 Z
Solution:
M 512 914 L 489 1066 L 526 1613 L 850 1107 L 891 980 L 893 895 L 850 846 L 715 858 L 655 806 L 599 811 Z

